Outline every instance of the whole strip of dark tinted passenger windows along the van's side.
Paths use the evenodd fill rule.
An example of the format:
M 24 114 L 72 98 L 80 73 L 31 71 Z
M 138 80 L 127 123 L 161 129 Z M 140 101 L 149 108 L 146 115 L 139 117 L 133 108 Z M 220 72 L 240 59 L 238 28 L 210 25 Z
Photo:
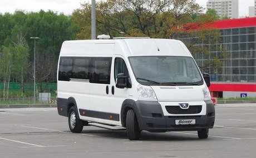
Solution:
M 111 57 L 61 57 L 58 80 L 110 84 L 111 61 Z

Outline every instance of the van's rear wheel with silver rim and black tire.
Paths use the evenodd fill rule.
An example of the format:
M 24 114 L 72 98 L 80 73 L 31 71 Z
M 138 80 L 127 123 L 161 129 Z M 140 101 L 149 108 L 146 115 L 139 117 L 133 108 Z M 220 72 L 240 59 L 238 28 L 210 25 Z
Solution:
M 84 124 L 85 123 L 79 119 L 76 107 L 72 106 L 68 112 L 68 126 L 70 127 L 70 131 L 80 133 L 83 130 Z

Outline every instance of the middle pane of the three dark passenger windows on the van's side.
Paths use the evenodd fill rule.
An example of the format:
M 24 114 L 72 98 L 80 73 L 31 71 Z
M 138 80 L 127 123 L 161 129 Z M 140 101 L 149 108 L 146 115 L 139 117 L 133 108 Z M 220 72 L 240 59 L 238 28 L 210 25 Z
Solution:
M 90 58 L 74 58 L 72 78 L 89 80 L 89 64 Z

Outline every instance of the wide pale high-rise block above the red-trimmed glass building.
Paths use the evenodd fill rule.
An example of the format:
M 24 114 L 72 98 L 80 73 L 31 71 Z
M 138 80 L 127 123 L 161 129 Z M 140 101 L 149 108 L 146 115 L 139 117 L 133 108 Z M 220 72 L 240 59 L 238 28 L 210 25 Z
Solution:
M 208 0 L 207 9 L 214 9 L 220 18 L 238 18 L 238 0 Z

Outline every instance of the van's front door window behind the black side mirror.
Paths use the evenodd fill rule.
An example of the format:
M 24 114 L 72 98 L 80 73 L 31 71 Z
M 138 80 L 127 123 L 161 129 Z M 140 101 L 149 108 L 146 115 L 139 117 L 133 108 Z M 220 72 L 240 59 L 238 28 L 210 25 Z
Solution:
M 117 75 L 119 73 L 124 73 L 125 76 L 129 77 L 129 72 L 128 72 L 127 67 L 125 65 L 125 61 L 122 58 L 115 58 L 115 72 L 114 72 L 115 81 L 116 81 Z

